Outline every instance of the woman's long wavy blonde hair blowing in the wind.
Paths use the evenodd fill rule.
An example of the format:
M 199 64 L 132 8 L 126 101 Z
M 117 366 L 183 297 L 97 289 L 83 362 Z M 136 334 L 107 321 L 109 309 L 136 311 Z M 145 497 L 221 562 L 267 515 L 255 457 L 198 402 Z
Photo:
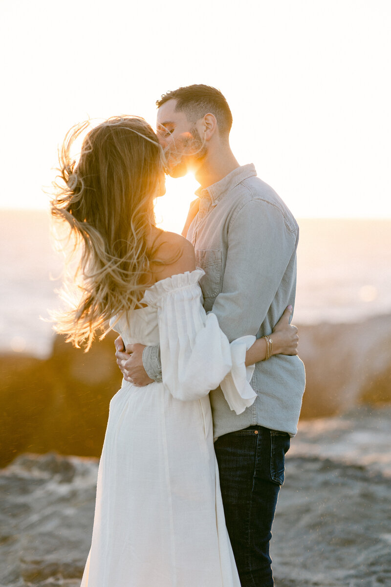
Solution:
M 73 252 L 81 244 L 76 271 L 63 288 L 69 299 L 66 292 L 76 286 L 76 302 L 52 318 L 67 342 L 86 350 L 97 330 L 103 338 L 110 318 L 134 309 L 142 297 L 156 253 L 147 239 L 155 225 L 153 201 L 164 178 L 157 136 L 134 116 L 112 117 L 91 129 L 76 164 L 70 151 L 88 126 L 77 124 L 67 133 L 50 202 L 52 216 L 75 237 Z

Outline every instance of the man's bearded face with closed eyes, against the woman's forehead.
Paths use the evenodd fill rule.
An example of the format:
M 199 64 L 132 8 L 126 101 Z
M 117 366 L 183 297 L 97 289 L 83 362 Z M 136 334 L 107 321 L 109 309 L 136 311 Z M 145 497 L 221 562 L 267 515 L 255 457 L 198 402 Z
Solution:
M 188 120 L 185 112 L 175 112 L 176 100 L 168 100 L 158 110 L 157 134 L 164 149 L 167 173 L 182 177 L 196 170 L 205 158 L 206 146 L 200 138 L 197 123 Z

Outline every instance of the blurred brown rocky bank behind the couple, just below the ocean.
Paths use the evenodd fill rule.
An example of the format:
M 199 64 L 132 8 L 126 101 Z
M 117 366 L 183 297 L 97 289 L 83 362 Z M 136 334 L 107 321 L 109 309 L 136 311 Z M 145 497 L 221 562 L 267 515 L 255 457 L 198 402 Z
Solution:
M 0 357 L 0 466 L 23 451 L 100 456 L 110 399 L 121 385 L 114 338 L 86 354 L 57 337 L 46 361 Z M 307 372 L 302 419 L 391 402 L 391 316 L 301 326 L 299 351 Z M 69 481 L 72 471 L 62 478 Z

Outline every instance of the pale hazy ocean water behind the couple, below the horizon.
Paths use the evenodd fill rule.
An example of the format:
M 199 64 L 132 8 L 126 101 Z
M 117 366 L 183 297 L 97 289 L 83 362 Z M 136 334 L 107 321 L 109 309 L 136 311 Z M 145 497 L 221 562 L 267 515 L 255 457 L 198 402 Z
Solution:
M 391 220 L 299 220 L 294 322 L 357 322 L 391 312 Z M 41 211 L 0 212 L 0 352 L 50 355 L 62 255 Z

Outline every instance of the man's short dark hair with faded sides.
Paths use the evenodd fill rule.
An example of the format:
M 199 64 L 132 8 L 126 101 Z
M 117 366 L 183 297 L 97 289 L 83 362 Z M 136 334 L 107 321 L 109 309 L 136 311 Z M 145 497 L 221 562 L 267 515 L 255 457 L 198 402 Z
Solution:
M 168 100 L 177 100 L 175 110 L 185 112 L 191 122 L 196 122 L 205 114 L 214 114 L 219 133 L 229 134 L 232 127 L 232 114 L 227 100 L 215 87 L 205 86 L 203 83 L 179 87 L 178 90 L 163 94 L 156 102 L 157 107 L 161 107 Z

